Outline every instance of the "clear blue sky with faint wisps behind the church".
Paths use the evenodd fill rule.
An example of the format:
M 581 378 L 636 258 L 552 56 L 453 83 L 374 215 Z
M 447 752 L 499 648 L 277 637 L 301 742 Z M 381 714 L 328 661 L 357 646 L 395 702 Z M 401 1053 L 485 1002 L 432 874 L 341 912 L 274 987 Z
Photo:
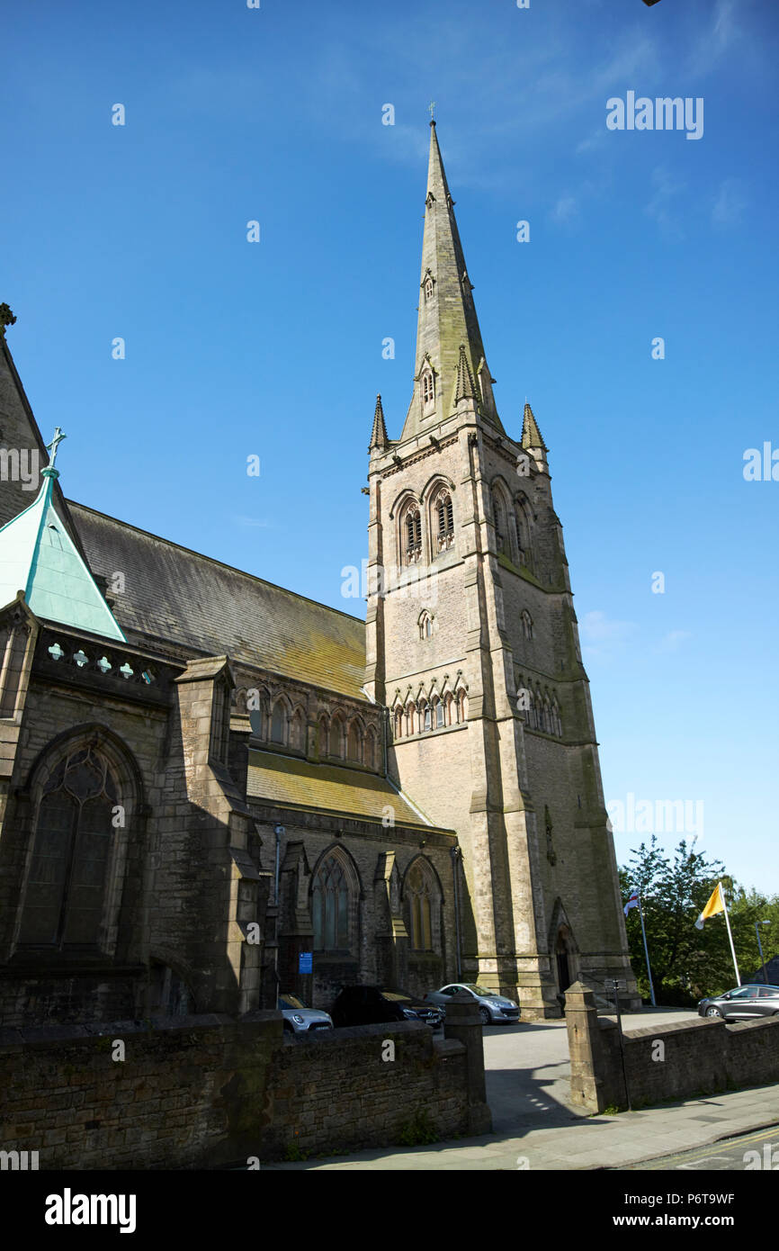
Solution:
M 606 801 L 703 801 L 699 849 L 779 891 L 779 482 L 743 475 L 779 449 L 775 5 L 15 0 L 4 33 L 0 300 L 65 493 L 355 615 L 436 101 L 499 410 L 550 448 Z M 608 130 L 628 91 L 701 98 L 703 136 Z

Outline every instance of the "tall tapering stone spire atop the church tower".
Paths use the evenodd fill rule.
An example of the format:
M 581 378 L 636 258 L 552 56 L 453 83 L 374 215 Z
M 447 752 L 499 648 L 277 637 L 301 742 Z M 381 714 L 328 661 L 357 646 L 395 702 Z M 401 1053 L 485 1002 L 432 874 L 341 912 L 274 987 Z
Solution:
M 463 398 L 468 373 L 475 380 L 474 402 L 479 414 L 503 429 L 493 399 L 494 379 L 484 359 L 454 200 L 444 173 L 435 121 L 431 121 L 414 395 L 401 440 L 435 428 L 451 414 Z M 465 385 L 465 390 L 469 389 Z

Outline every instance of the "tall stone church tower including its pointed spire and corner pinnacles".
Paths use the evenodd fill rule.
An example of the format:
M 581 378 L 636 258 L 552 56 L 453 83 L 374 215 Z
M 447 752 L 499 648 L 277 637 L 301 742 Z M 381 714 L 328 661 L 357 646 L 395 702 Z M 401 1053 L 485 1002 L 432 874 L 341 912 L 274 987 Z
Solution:
M 366 684 L 389 709 L 389 773 L 458 833 L 453 976 L 559 1015 L 578 977 L 638 1002 L 588 678 L 529 404 L 495 405 L 431 123 L 414 392 L 370 439 Z

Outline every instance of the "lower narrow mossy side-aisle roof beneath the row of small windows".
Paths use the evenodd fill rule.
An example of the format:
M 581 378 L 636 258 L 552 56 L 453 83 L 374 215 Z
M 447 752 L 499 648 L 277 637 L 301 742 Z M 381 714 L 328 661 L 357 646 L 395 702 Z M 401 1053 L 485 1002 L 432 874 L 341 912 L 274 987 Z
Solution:
M 310 761 L 278 756 L 275 752 L 249 749 L 246 798 L 264 799 L 281 808 L 315 808 L 350 817 L 381 821 L 391 806 L 395 821 L 430 828 L 415 808 L 393 789 L 386 778 L 340 764 L 313 764 Z

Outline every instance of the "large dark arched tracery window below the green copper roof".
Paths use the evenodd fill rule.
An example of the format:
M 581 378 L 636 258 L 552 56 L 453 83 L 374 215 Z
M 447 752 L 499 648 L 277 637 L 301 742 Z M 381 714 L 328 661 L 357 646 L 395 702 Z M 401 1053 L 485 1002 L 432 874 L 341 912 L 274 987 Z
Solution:
M 116 802 L 115 782 L 95 747 L 60 761 L 38 809 L 20 943 L 100 945 Z

